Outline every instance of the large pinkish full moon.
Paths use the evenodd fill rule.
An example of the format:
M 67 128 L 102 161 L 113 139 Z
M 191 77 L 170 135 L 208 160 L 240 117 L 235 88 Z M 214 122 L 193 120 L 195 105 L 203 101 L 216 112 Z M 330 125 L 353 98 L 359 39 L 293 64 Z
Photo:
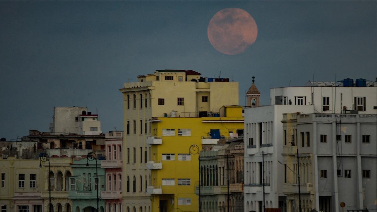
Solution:
M 257 39 L 258 29 L 253 17 L 239 8 L 217 12 L 207 29 L 211 45 L 219 52 L 236 55 L 245 51 Z

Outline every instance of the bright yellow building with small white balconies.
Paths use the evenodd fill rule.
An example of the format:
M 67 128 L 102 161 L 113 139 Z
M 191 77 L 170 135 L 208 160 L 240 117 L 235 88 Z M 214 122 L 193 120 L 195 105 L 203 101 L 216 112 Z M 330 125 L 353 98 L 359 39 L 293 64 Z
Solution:
M 225 117 L 165 118 L 152 122 L 152 211 L 198 211 L 198 154 L 190 154 L 190 146 L 211 148 L 220 138 L 241 136 L 244 128 L 242 107 L 225 107 Z M 236 134 L 239 132 L 240 135 Z M 211 136 L 208 136 L 211 135 Z M 196 153 L 197 149 L 192 149 Z

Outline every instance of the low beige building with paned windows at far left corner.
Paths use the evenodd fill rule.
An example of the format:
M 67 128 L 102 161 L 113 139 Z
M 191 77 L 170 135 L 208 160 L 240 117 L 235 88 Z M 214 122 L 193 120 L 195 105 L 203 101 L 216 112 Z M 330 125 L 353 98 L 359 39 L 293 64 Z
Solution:
M 0 205 L 2 212 L 43 212 L 44 178 L 39 160 L 8 157 L 0 160 Z

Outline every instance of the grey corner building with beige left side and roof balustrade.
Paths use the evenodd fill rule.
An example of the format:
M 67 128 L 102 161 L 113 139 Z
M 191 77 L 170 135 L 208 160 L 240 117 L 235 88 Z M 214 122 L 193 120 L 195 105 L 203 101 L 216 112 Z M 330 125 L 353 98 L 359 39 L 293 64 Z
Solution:
M 299 185 L 304 211 L 339 212 L 341 202 L 345 210 L 371 209 L 377 198 L 377 115 L 284 114 L 282 122 L 289 212 L 299 208 Z M 300 184 L 289 169 L 299 172 Z

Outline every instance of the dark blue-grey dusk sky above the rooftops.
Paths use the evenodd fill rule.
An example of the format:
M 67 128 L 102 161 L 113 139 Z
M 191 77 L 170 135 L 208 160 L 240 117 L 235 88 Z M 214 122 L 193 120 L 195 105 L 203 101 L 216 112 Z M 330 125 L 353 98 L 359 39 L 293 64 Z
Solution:
M 217 51 L 213 15 L 240 8 L 258 35 L 243 53 Z M 0 1 L 0 137 L 49 131 L 54 106 L 98 111 L 102 131 L 123 130 L 118 89 L 156 69 L 186 69 L 269 89 L 377 77 L 376 1 Z

